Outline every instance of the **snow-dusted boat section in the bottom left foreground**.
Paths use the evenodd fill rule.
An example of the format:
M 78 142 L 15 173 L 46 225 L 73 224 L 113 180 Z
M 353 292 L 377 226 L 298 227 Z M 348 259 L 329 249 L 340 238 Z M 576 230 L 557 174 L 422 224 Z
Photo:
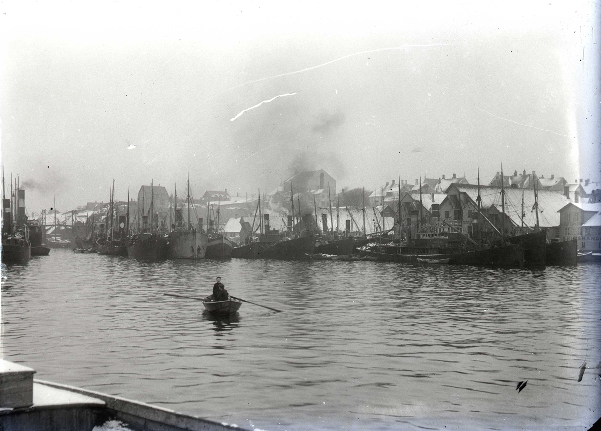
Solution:
M 198 416 L 73 386 L 34 379 L 35 370 L 0 360 L 3 430 L 242 430 Z

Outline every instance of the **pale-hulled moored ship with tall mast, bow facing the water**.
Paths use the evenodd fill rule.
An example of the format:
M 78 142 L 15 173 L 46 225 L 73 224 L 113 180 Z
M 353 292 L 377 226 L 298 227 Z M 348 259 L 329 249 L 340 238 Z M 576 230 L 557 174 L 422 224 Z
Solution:
M 177 190 L 175 190 L 174 230 L 167 236 L 167 257 L 169 259 L 204 259 L 209 237 L 204 232 L 192 228 L 190 220 L 190 179 L 188 178 L 188 223 L 184 223 L 183 209 L 177 208 Z

